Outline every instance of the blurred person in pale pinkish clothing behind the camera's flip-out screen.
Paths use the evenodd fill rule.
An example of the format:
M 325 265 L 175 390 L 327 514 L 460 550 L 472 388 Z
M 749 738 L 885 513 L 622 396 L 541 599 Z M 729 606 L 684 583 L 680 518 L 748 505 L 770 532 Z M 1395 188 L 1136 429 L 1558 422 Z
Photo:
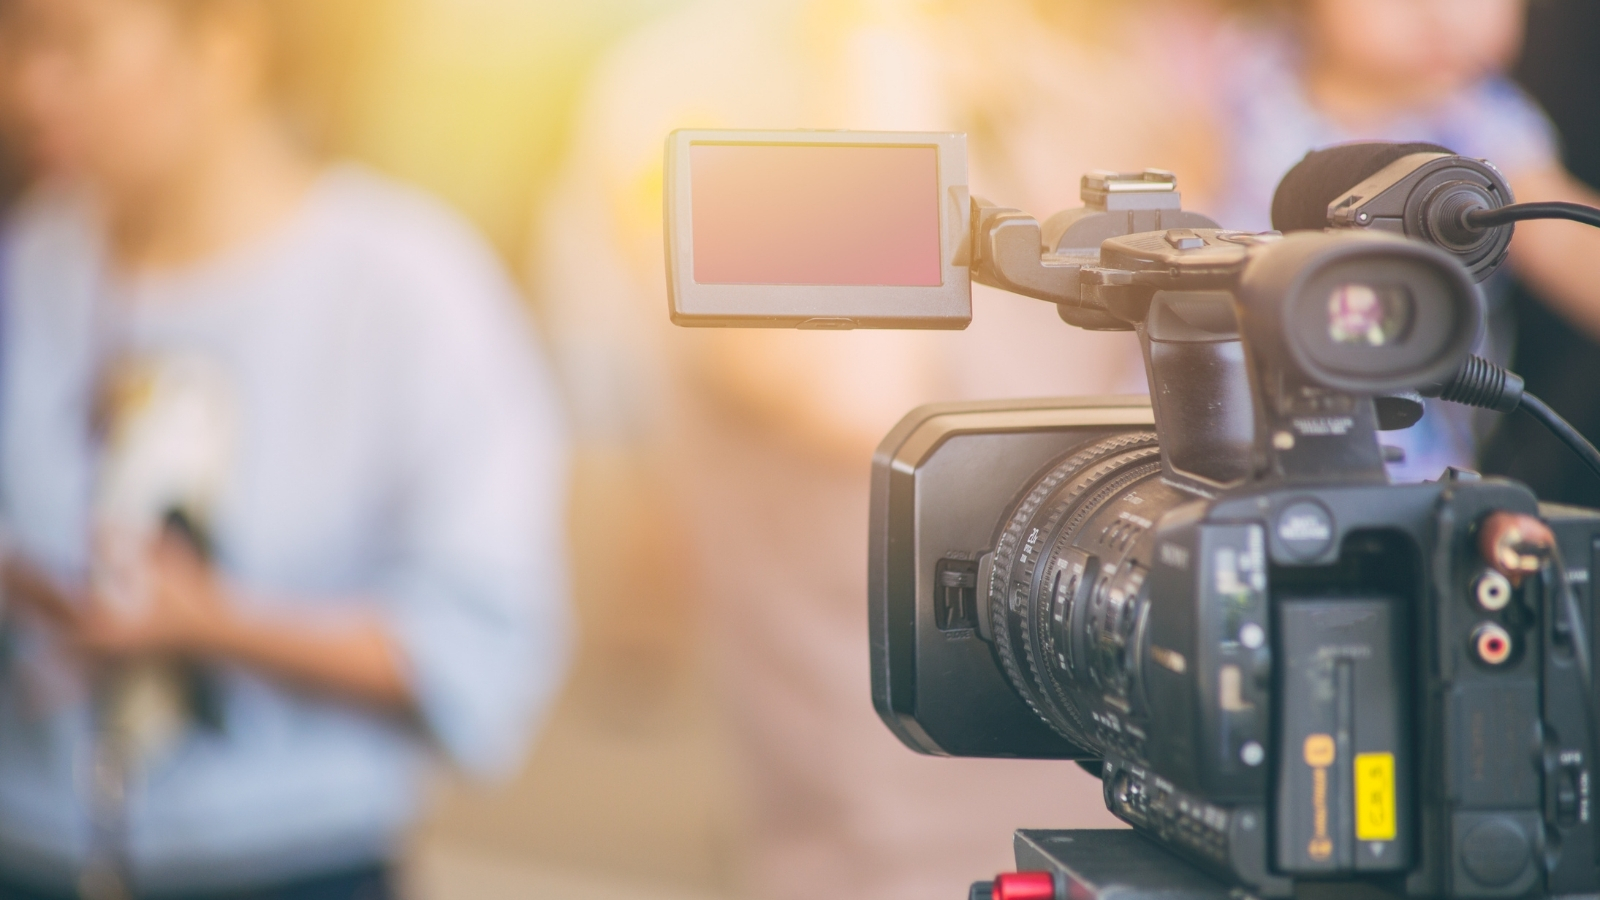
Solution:
M 966 131 L 973 191 L 1046 216 L 1080 205 L 1090 168 L 1181 168 L 1162 139 L 1184 110 L 1130 102 L 1163 94 L 1150 38 L 1170 26 L 1125 27 L 1142 8 L 701 0 L 618 48 L 581 106 L 536 279 L 581 439 L 630 447 L 672 495 L 658 530 L 704 599 L 752 897 L 949 895 L 1011 868 L 1014 828 L 1115 825 L 1077 765 L 922 757 L 877 719 L 867 484 L 875 444 L 918 404 L 1142 391 L 1144 373 L 1130 335 L 984 288 L 957 335 L 674 330 L 666 136 Z

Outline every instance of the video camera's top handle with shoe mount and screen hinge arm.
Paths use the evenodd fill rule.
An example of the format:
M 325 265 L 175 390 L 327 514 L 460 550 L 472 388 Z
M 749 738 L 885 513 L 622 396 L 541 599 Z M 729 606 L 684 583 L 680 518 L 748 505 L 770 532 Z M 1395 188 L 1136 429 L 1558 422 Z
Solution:
M 1054 303 L 1070 325 L 1138 333 L 1157 431 L 1166 436 L 1162 464 L 1168 479 L 1210 493 L 1267 472 L 1286 480 L 1318 480 L 1328 472 L 1386 477 L 1371 402 L 1349 397 L 1349 408 L 1312 413 L 1256 408 L 1229 275 L 1173 283 L 1165 269 L 1101 266 L 1106 240 L 1165 231 L 1168 243 L 1187 248 L 1184 242 L 1206 240 L 1197 229 L 1218 227 L 1179 208 L 1170 173 L 1091 173 L 1083 176 L 1083 208 L 1040 226 L 1018 210 L 973 199 L 971 277 Z M 1254 421 L 1258 415 L 1266 420 Z M 1286 424 L 1293 418 L 1326 420 L 1330 434 L 1350 440 L 1296 442 Z

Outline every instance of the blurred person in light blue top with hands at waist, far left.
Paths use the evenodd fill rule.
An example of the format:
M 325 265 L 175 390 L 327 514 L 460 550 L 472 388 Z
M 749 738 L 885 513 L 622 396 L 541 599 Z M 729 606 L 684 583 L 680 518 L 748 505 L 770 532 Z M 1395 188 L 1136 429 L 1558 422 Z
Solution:
M 0 0 L 0 897 L 362 897 L 565 657 L 517 291 L 328 165 L 342 0 Z

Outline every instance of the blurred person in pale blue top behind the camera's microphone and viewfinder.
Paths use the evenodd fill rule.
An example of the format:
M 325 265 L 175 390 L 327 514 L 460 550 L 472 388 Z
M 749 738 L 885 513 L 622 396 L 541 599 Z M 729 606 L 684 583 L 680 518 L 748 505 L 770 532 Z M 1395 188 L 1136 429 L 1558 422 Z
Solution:
M 1270 227 L 1272 194 L 1307 151 L 1347 141 L 1427 141 L 1486 159 L 1520 202 L 1600 205 L 1562 167 L 1539 106 L 1509 75 L 1522 48 L 1526 0 L 1254 0 L 1173 46 L 1190 75 L 1173 80 L 1208 110 L 1192 135 L 1198 208 L 1226 227 Z M 1210 157 L 1208 160 L 1205 157 Z M 1600 231 L 1576 223 L 1517 224 L 1510 266 L 1549 307 L 1600 336 Z M 1478 352 L 1510 362 L 1510 275 L 1485 285 L 1490 328 Z M 1387 432 L 1405 450 L 1397 480 L 1477 468 L 1496 413 L 1442 400 L 1411 429 Z

